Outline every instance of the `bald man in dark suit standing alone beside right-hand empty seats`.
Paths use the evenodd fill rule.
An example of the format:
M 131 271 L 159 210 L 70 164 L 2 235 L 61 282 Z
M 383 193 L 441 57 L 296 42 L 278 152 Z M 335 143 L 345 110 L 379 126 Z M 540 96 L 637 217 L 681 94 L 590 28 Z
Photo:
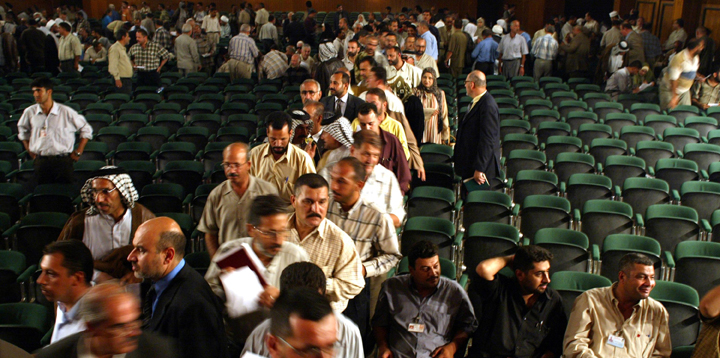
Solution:
M 463 179 L 480 184 L 500 171 L 500 120 L 495 99 L 487 92 L 485 74 L 472 71 L 465 80 L 470 108 L 458 126 L 455 143 L 455 171 Z

